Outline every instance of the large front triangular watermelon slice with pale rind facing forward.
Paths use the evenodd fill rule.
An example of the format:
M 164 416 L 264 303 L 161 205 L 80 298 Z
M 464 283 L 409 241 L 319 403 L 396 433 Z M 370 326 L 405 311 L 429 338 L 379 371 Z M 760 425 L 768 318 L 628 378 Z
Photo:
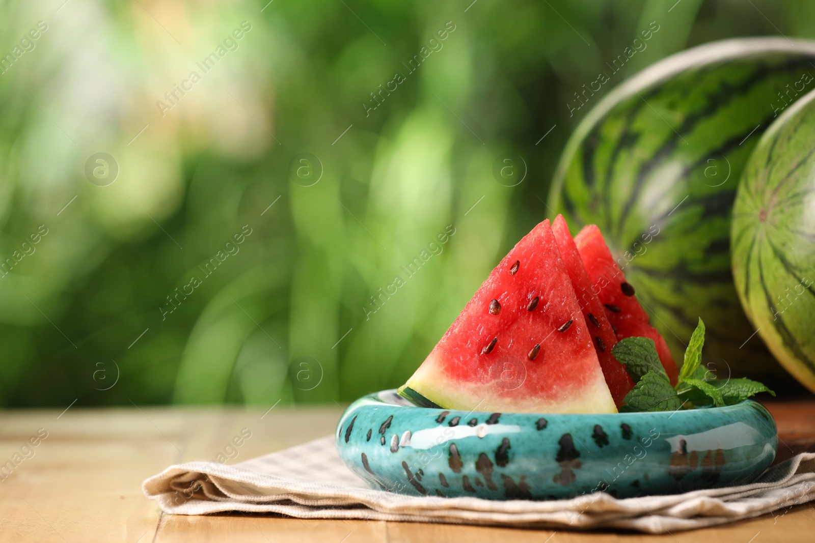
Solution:
M 492 270 L 411 389 L 445 409 L 616 412 L 548 220 Z

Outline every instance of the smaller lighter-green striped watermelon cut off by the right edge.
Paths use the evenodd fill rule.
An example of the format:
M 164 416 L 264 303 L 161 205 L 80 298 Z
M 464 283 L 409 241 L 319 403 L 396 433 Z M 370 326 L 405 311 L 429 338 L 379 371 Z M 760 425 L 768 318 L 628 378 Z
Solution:
M 815 392 L 815 92 L 761 138 L 731 229 L 739 299 L 769 350 Z

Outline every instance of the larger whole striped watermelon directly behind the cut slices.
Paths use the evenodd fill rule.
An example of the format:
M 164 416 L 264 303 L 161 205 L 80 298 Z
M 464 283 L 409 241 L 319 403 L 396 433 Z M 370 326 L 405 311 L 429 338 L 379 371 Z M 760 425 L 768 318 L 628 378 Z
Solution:
M 739 348 L 753 329 L 731 274 L 730 218 L 752 148 L 789 107 L 779 93 L 797 99 L 813 63 L 815 42 L 783 38 L 687 50 L 619 85 L 566 146 L 549 207 L 575 230 L 600 226 L 676 360 L 702 317 L 706 361 L 783 373 L 760 345 Z

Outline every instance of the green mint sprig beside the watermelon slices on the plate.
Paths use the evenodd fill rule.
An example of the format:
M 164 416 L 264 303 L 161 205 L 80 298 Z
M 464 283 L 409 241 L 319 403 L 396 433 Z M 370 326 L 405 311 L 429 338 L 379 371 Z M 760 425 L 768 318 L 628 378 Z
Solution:
M 775 392 L 764 384 L 751 379 L 707 380 L 709 372 L 702 366 L 704 343 L 705 323 L 700 318 L 685 349 L 678 382 L 672 387 L 653 339 L 632 337 L 620 340 L 611 353 L 625 365 L 631 379 L 637 383 L 623 398 L 620 411 L 675 411 L 683 406 L 706 405 L 722 407 L 738 404 L 759 392 L 775 396 Z

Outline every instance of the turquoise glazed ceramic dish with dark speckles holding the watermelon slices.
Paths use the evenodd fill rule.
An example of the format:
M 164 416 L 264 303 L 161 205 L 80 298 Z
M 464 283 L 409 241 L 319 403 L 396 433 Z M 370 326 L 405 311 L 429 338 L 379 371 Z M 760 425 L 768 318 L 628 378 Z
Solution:
M 394 390 L 351 404 L 336 438 L 372 488 L 490 500 L 747 484 L 778 448 L 773 417 L 751 400 L 675 413 L 468 413 L 416 407 Z

